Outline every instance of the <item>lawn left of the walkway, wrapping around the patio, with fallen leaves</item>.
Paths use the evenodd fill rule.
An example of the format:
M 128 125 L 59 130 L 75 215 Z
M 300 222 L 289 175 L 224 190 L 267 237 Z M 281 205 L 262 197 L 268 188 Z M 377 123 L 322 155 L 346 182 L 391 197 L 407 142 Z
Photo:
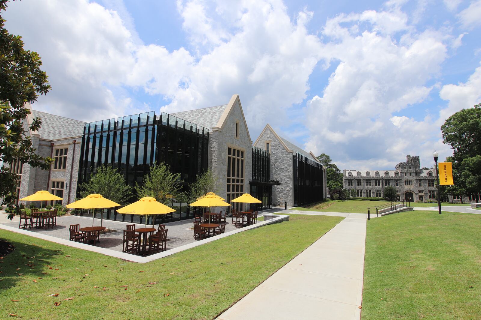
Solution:
M 213 319 L 341 220 L 295 215 L 145 264 L 0 230 L 16 248 L 0 319 Z

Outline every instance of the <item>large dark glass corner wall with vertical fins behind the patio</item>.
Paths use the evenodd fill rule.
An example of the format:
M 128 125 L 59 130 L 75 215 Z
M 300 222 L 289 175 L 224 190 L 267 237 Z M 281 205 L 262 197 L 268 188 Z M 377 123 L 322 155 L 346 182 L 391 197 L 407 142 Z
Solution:
M 87 123 L 82 136 L 78 183 L 89 180 L 101 165 L 117 168 L 130 186 L 142 184 L 150 166 L 165 162 L 181 175 L 184 190 L 207 170 L 208 130 L 166 113 L 154 111 Z M 78 193 L 78 190 L 77 190 Z M 131 202 L 137 197 L 130 199 Z M 172 203 L 176 213 L 160 215 L 155 223 L 190 217 L 185 203 Z M 100 211 L 100 210 L 98 210 Z M 98 217 L 100 217 L 101 213 Z M 142 216 L 104 210 L 104 218 L 144 223 Z M 152 223 L 151 218 L 149 222 Z

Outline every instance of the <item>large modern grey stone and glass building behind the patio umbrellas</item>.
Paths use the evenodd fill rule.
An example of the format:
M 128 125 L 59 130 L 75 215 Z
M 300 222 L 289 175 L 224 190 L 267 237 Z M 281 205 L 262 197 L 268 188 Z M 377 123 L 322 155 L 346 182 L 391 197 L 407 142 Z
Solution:
M 174 114 L 152 111 L 90 123 L 35 110 L 31 116 L 42 119 L 40 131 L 32 134 L 34 146 L 42 156 L 56 160 L 49 171 L 13 165 L 21 174 L 20 197 L 44 189 L 63 197 L 65 205 L 102 164 L 117 168 L 134 186 L 142 183 L 152 164 L 165 162 L 180 173 L 184 190 L 210 169 L 220 196 L 230 201 L 249 192 L 262 201 L 257 209 L 326 198 L 325 170 L 314 154 L 279 138 L 269 125 L 253 145 L 239 95 L 222 106 Z M 241 204 L 233 208 L 240 209 Z M 190 218 L 189 209 L 179 207 L 167 221 Z M 103 214 L 106 219 L 140 221 L 113 210 Z

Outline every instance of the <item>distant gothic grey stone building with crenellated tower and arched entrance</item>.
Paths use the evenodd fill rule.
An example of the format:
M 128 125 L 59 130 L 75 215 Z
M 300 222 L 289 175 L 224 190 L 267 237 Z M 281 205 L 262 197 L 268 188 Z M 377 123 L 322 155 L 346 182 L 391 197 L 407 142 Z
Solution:
M 384 187 L 396 189 L 397 199 L 436 200 L 436 170 L 422 170 L 418 156 L 406 156 L 395 170 L 343 170 L 344 189 L 355 197 L 384 197 Z

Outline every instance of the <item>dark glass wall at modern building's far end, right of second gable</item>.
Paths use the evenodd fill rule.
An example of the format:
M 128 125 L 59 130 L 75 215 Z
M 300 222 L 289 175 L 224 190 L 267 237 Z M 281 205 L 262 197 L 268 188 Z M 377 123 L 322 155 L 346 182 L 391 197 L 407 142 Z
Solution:
M 303 154 L 294 154 L 294 206 L 322 201 L 324 180 L 322 165 Z

